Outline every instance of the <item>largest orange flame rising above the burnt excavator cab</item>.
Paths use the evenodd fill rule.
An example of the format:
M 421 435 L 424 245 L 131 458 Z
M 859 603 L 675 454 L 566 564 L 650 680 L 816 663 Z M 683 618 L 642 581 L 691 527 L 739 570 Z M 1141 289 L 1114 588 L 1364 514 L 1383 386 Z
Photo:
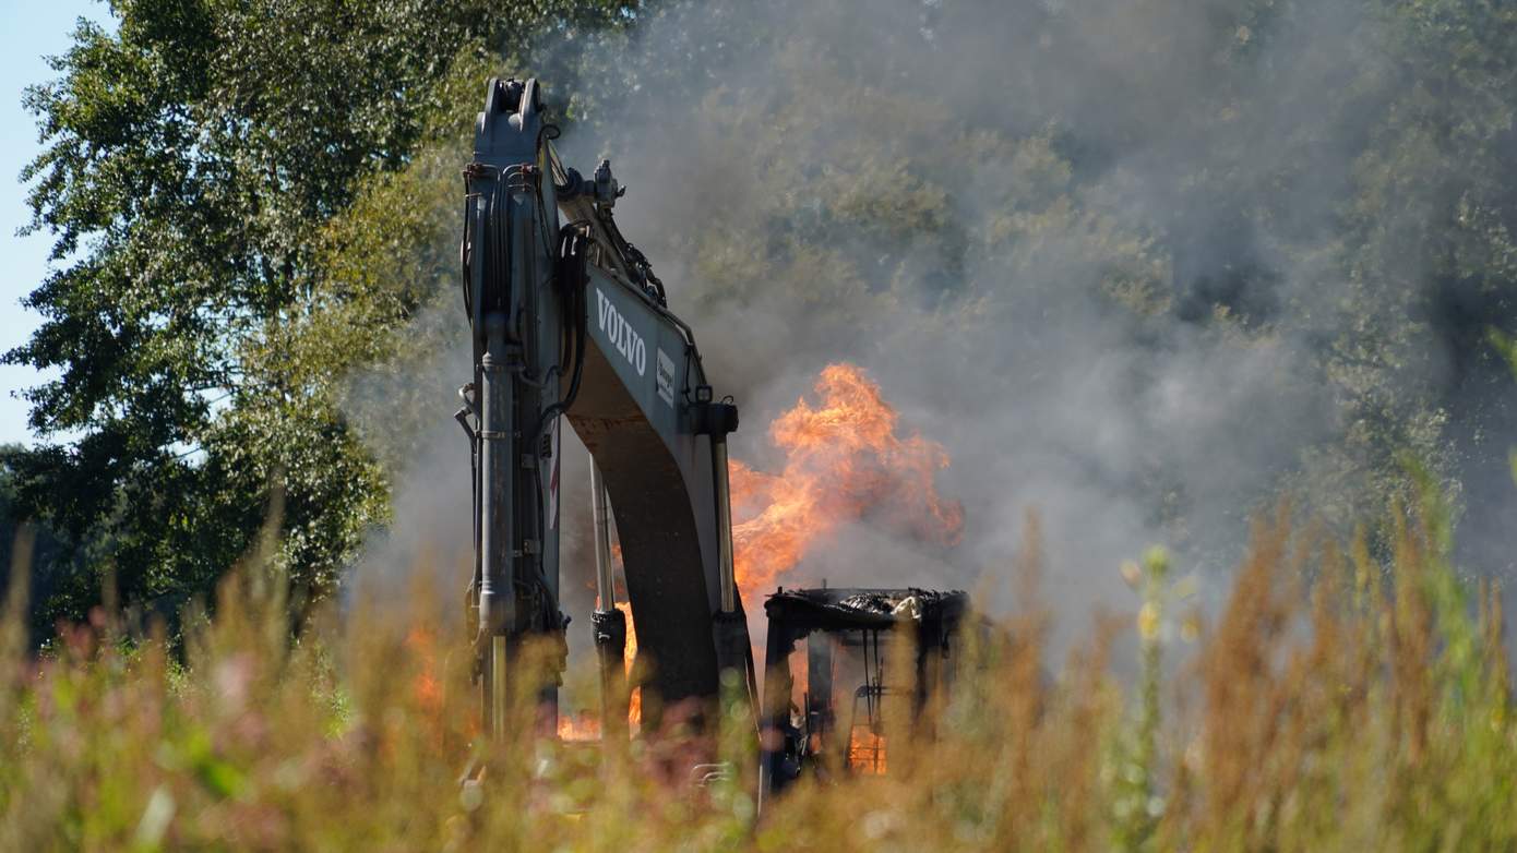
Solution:
M 778 474 L 731 464 L 733 562 L 737 585 L 775 583 L 813 544 L 845 521 L 878 515 L 942 545 L 963 532 L 963 508 L 938 495 L 936 471 L 948 467 L 941 444 L 897 433 L 900 415 L 880 386 L 851 364 L 822 370 L 819 402 L 804 397 L 769 426 L 786 455 Z

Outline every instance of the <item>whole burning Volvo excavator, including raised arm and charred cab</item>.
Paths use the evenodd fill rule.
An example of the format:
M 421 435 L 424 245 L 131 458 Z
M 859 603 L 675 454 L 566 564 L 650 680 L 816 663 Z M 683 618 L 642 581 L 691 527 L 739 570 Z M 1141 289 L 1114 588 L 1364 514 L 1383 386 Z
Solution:
M 566 650 L 560 611 L 563 424 L 590 451 L 604 736 L 627 718 L 610 527 L 637 627 L 643 730 L 669 709 L 715 729 L 724 691 L 745 700 L 760 744 L 760 795 L 815 768 L 883 771 L 884 664 L 912 626 L 916 665 L 900 691 L 919 709 L 953 671 L 963 592 L 778 591 L 766 601 L 766 694 L 733 570 L 727 439 L 737 406 L 718 395 L 690 326 L 613 218 L 625 194 L 602 161 L 584 176 L 552 145 L 537 80 L 490 79 L 464 174 L 460 245 L 473 377 L 455 418 L 469 439 L 473 574 L 466 606 L 485 736 L 555 730 L 557 677 L 522 667 L 528 645 Z M 804 642 L 804 656 L 795 648 Z M 557 667 L 561 671 L 563 651 Z M 804 659 L 799 697 L 792 662 Z M 894 671 L 894 670 L 890 670 Z M 840 674 L 837 674 L 840 673 Z M 846 679 L 857 689 L 836 689 Z M 725 717 L 725 718 L 730 718 Z M 842 721 L 842 723 L 840 723 Z M 730 724 L 730 723 L 728 723 Z M 842 732 L 846 732 L 846 736 Z M 625 736 L 625 733 L 622 733 Z M 702 765 L 715 767 L 715 765 Z M 731 773 L 731 768 L 719 770 Z

